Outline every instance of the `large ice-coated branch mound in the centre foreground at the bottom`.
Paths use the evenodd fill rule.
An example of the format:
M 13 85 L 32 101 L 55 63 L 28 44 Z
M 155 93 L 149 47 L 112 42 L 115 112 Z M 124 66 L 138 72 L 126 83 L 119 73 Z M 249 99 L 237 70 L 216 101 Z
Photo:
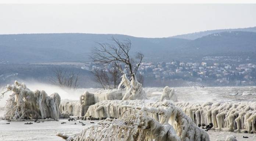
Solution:
M 181 141 L 173 126 L 147 116 L 146 109 L 120 119 L 107 118 L 75 136 L 58 133 L 68 141 Z

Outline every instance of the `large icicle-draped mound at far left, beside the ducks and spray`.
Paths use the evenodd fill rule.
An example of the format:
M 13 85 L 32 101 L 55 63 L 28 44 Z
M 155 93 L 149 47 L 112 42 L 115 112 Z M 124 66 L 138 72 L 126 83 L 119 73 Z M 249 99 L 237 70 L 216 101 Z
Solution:
M 24 83 L 14 82 L 14 85 L 7 85 L 7 90 L 13 94 L 6 102 L 5 119 L 58 119 L 65 114 L 60 114 L 60 96 L 53 93 L 50 96 L 45 91 L 36 90 L 35 92 L 26 88 Z

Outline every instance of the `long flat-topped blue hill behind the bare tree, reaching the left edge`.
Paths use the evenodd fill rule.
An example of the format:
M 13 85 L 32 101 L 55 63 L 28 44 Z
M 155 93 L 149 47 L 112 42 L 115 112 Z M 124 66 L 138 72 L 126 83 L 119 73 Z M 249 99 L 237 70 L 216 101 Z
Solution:
M 145 59 L 163 59 L 166 50 L 181 48 L 189 40 L 179 38 L 138 38 L 120 34 L 11 34 L 0 35 L 0 61 L 15 63 L 35 62 L 86 62 L 97 42 L 113 43 L 118 40 L 131 40 L 131 52 L 140 51 Z

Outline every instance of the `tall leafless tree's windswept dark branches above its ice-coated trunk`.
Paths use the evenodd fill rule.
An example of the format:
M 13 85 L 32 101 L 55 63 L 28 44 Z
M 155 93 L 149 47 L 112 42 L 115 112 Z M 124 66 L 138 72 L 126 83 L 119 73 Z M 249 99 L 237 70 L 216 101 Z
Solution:
M 118 70 L 124 73 L 124 69 L 121 65 L 122 63 L 125 65 L 125 70 L 127 71 L 128 77 L 136 79 L 135 76 L 144 55 L 138 52 L 136 53 L 135 58 L 131 58 L 129 55 L 131 50 L 131 41 L 129 39 L 125 42 L 120 42 L 112 37 L 111 41 L 113 41 L 114 44 L 98 43 L 100 47 L 93 49 L 91 59 L 95 63 L 104 65 L 112 63 L 118 68 Z

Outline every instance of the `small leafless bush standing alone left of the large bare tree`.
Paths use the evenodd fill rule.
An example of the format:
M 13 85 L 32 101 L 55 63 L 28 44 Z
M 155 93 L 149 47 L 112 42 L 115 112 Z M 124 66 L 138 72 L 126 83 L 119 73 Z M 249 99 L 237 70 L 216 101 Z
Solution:
M 69 89 L 77 89 L 79 73 L 59 67 L 54 68 L 53 74 L 54 76 L 50 77 L 53 84 Z

